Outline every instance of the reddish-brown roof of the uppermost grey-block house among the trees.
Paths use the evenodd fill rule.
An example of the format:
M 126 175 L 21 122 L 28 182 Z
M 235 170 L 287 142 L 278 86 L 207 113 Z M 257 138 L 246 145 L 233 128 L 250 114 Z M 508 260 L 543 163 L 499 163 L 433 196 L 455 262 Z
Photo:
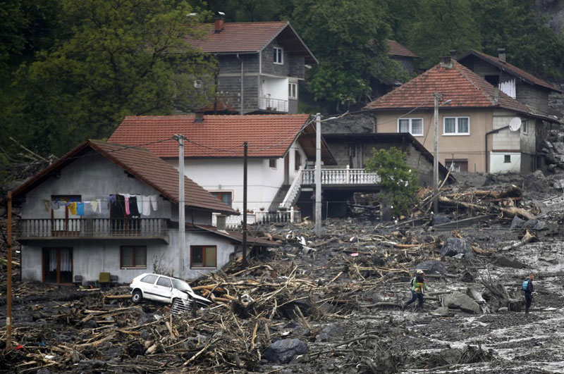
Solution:
M 215 32 L 214 23 L 202 25 L 202 39 L 186 37 L 185 41 L 210 54 L 232 54 L 259 52 L 283 32 L 292 39 L 292 51 L 305 54 L 306 63 L 317 63 L 293 27 L 288 22 L 224 23 L 221 32 Z M 300 46 L 301 44 L 301 46 Z

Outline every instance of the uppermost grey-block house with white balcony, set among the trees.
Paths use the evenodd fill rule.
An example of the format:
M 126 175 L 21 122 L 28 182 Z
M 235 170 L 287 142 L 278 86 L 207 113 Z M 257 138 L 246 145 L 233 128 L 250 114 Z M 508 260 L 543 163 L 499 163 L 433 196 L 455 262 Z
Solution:
M 317 59 L 289 22 L 226 23 L 218 16 L 202 29 L 202 39 L 186 42 L 217 59 L 221 107 L 240 114 L 298 113 L 298 84 Z M 214 82 L 195 82 L 205 84 Z

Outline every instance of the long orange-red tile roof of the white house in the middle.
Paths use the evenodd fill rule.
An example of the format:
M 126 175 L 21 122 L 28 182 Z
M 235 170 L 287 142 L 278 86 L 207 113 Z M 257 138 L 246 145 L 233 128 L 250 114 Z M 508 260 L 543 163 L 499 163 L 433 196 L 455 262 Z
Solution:
M 193 158 L 243 157 L 243 142 L 249 157 L 279 158 L 308 123 L 309 114 L 245 116 L 128 116 L 109 142 L 137 146 L 184 135 L 185 156 Z M 178 157 L 177 142 L 147 144 L 143 147 L 159 157 Z

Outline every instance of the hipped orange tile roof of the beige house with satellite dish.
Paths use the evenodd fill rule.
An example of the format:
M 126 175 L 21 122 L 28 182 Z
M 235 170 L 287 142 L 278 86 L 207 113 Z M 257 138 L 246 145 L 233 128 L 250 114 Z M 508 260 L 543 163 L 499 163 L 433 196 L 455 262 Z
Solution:
M 454 60 L 451 62 L 452 68 L 446 68 L 439 63 L 372 101 L 364 109 L 434 108 L 432 95 L 439 92 L 444 100 L 452 100 L 443 105 L 443 108 L 499 107 L 522 113 L 531 112 L 527 106 L 496 90 L 472 70 Z

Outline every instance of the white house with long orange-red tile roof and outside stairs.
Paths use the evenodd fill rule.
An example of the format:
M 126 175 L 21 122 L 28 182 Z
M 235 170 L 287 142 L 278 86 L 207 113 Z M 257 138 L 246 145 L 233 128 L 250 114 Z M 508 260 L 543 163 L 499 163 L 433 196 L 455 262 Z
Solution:
M 243 143 L 247 142 L 247 208 L 278 208 L 280 197 L 315 159 L 315 124 L 308 114 L 245 116 L 128 116 L 110 142 L 149 149 L 178 168 L 178 143 L 159 142 L 173 135 L 186 137 L 186 176 L 228 206 L 243 211 Z M 321 158 L 336 162 L 325 142 Z

